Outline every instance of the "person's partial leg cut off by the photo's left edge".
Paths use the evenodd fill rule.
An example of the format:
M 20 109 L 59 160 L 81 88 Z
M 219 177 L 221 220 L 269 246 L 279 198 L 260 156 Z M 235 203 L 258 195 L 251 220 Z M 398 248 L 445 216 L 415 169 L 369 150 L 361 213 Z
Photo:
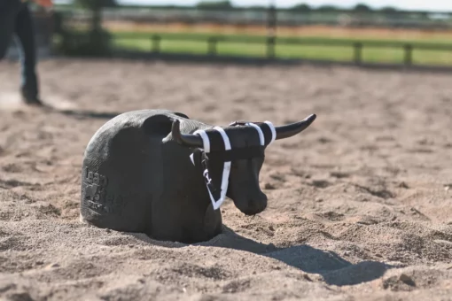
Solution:
M 19 5 L 18 0 L 0 0 L 0 59 L 4 58 L 12 42 Z

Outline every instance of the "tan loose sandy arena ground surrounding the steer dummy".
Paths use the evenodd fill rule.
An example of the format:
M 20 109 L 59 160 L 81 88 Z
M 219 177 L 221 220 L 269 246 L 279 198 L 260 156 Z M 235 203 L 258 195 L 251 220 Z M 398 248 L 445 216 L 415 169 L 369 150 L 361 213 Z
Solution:
M 19 63 L 0 70 L 0 298 L 452 299 L 451 74 L 43 61 L 44 101 L 78 112 L 63 113 L 21 105 Z M 82 224 L 91 135 L 152 108 L 222 126 L 317 120 L 269 146 L 266 211 L 227 200 L 212 241 Z

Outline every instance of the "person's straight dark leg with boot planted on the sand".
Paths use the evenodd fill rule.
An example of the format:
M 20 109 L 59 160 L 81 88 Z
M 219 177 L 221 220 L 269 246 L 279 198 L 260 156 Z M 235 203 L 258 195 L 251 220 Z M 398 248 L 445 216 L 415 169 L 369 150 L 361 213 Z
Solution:
M 38 81 L 36 76 L 35 31 L 33 20 L 27 4 L 22 7 L 16 18 L 15 33 L 20 43 L 21 93 L 29 104 L 41 104 L 38 98 Z

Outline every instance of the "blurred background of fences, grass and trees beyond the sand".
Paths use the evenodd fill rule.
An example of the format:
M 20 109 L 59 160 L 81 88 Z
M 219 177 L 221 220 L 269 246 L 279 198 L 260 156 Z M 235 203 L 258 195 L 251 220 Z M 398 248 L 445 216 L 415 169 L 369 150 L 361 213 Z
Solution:
M 390 3 L 67 0 L 55 1 L 51 11 L 32 7 L 42 57 L 190 55 L 452 66 L 452 4 Z M 9 56 L 17 57 L 14 45 Z

